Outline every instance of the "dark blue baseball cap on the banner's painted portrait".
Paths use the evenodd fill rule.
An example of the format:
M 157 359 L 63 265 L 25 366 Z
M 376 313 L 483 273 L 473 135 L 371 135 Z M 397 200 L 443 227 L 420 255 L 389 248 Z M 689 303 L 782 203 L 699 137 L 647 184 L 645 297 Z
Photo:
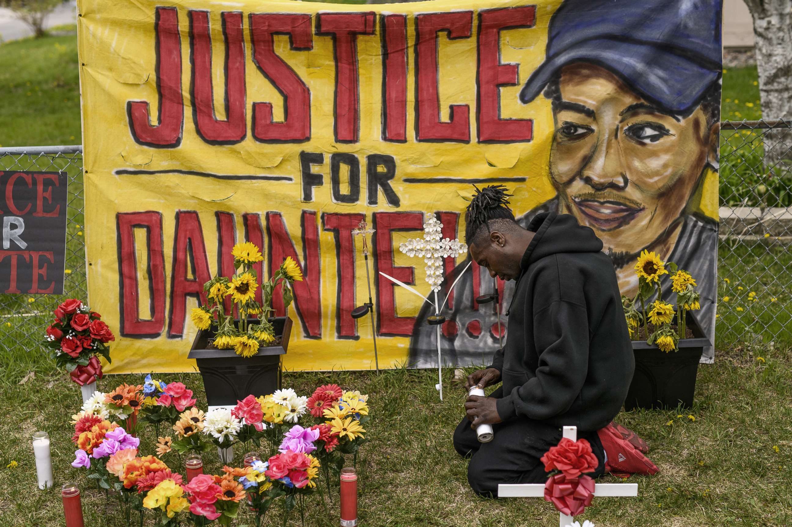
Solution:
M 589 63 L 668 112 L 687 113 L 720 78 L 721 11 L 721 0 L 564 0 L 520 100 L 534 100 L 563 66 Z

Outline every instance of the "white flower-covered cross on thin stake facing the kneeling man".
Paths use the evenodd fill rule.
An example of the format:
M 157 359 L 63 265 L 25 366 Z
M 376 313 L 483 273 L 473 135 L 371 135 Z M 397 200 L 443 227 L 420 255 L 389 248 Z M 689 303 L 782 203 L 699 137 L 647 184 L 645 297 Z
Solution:
M 459 279 L 465 274 L 467 267 L 470 267 L 470 262 L 468 262 L 462 272 L 459 273 L 459 276 L 457 276 L 454 283 L 451 284 L 451 287 L 448 288 L 448 294 L 446 295 L 443 303 L 440 304 L 440 302 L 437 300 L 437 291 L 440 290 L 440 284 L 443 283 L 444 280 L 443 259 L 447 258 L 448 256 L 453 256 L 456 258 L 460 254 L 467 252 L 467 245 L 463 244 L 461 241 L 457 239 L 451 240 L 450 238 L 443 239 L 442 231 L 443 224 L 438 222 L 435 214 L 430 212 L 426 214 L 423 239 L 417 238 L 413 240 L 410 238 L 403 244 L 400 244 L 398 247 L 398 250 L 405 253 L 407 256 L 417 256 L 418 258 L 424 259 L 426 264 L 426 281 L 430 286 L 432 286 L 432 292 L 435 295 L 434 302 L 426 298 L 421 293 L 418 293 L 417 290 L 414 290 L 406 283 L 399 282 L 397 279 L 394 279 L 394 277 L 386 275 L 382 271 L 379 272 L 379 274 L 383 275 L 386 279 L 389 279 L 397 283 L 399 286 L 404 287 L 406 290 L 417 294 L 425 301 L 428 301 L 428 303 L 435 308 L 435 314 L 432 317 L 429 317 L 428 322 L 429 324 L 435 325 L 437 327 L 438 382 L 435 388 L 440 392 L 440 400 L 443 400 L 443 357 L 440 352 L 440 325 L 445 321 L 445 317 L 440 315 L 440 309 L 443 309 L 444 305 L 448 301 L 448 295 L 451 294 L 451 290 L 454 289 L 456 283 L 459 282 Z

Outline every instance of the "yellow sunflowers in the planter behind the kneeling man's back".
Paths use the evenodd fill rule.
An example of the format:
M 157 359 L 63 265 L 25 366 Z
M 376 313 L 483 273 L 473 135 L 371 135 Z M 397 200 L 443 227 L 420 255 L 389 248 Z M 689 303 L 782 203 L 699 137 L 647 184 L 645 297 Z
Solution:
M 696 290 L 695 279 L 687 271 L 679 269 L 673 262 L 664 262 L 660 256 L 648 251 L 642 252 L 638 257 L 635 274 L 638 275 L 638 294 L 632 300 L 622 296 L 624 316 L 627 320 L 630 338 L 636 336 L 639 326 L 643 325 L 645 334 L 648 336 L 646 343 L 657 344 L 657 347 L 666 353 L 679 350 L 678 343 L 680 339 L 685 338 L 687 329 L 687 312 L 701 309 L 701 294 Z M 676 293 L 676 306 L 663 300 L 660 283 L 663 275 L 669 275 L 671 278 L 671 290 Z M 655 293 L 657 293 L 657 299 L 647 306 L 646 301 Z M 639 299 L 641 301 L 640 312 L 636 305 Z M 671 326 L 675 315 L 676 330 Z M 649 323 L 653 324 L 651 333 L 649 332 Z

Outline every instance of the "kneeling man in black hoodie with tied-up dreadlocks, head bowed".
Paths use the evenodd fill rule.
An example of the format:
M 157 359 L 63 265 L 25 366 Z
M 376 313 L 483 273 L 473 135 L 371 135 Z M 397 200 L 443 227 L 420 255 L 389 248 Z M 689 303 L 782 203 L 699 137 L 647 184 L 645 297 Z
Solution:
M 483 188 L 466 211 L 470 257 L 493 277 L 516 280 L 508 336 L 492 366 L 467 378 L 467 388 L 502 382 L 489 397 L 470 396 L 454 447 L 472 455 L 467 475 L 480 495 L 499 483 L 544 483 L 539 458 L 576 426 L 604 472 L 597 430 L 622 408 L 634 358 L 613 263 L 592 229 L 569 214 L 538 214 L 527 230 L 508 208 L 502 185 Z M 471 423 L 472 421 L 472 423 Z M 475 427 L 493 425 L 479 443 Z

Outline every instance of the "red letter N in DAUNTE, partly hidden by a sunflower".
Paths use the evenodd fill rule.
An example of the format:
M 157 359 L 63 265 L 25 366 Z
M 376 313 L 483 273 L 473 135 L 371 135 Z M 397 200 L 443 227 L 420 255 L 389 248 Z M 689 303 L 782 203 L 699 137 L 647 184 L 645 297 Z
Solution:
M 280 212 L 267 213 L 267 230 L 269 233 L 269 273 L 272 276 L 283 264 L 287 256 L 291 256 L 303 271 L 303 281 L 294 282 L 294 305 L 303 324 L 303 335 L 309 339 L 322 338 L 322 283 L 319 270 L 319 228 L 316 223 L 316 212 L 303 210 L 303 260 L 297 256 L 297 249 L 291 242 L 286 224 Z M 279 317 L 286 313 L 280 286 L 272 294 L 272 307 Z

